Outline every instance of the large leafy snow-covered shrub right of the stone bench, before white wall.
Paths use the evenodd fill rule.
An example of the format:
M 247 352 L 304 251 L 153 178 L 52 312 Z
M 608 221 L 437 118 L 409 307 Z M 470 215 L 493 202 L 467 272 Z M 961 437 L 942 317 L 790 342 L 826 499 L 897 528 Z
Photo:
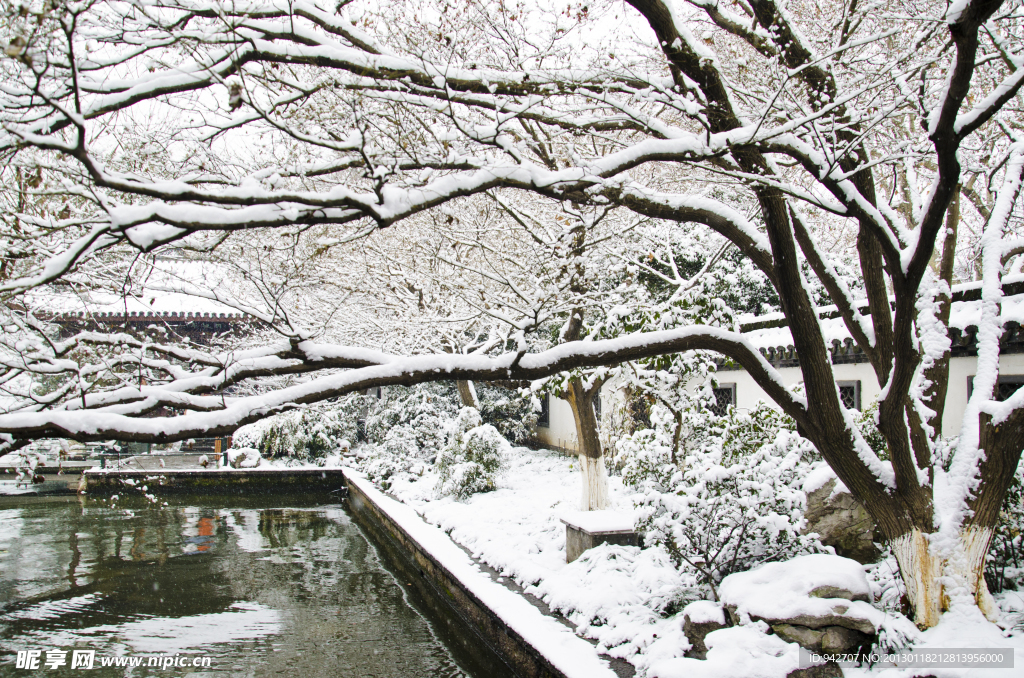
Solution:
M 825 551 L 802 536 L 803 478 L 816 456 L 792 420 L 761 405 L 718 417 L 688 410 L 685 454 L 673 459 L 678 419 L 652 409 L 651 430 L 623 438 L 624 481 L 640 493 L 639 528 L 696 575 L 693 597 L 716 596 L 726 576 L 763 562 Z

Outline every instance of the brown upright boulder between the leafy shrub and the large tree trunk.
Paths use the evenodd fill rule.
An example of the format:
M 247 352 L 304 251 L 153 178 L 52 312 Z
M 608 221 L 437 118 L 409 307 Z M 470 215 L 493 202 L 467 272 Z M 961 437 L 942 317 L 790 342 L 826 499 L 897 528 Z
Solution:
M 878 561 L 882 554 L 874 546 L 878 528 L 874 520 L 849 492 L 833 496 L 836 482 L 836 478 L 831 478 L 807 493 L 804 534 L 817 533 L 821 543 L 836 549 L 838 555 L 861 563 Z

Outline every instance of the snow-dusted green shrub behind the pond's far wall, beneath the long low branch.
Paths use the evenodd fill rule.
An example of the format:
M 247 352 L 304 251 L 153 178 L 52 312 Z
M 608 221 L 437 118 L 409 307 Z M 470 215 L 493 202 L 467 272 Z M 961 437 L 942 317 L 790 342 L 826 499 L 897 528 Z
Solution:
M 346 395 L 306 410 L 267 417 L 234 432 L 232 444 L 253 448 L 267 458 L 322 462 L 337 454 L 342 440 L 354 439 L 367 396 Z

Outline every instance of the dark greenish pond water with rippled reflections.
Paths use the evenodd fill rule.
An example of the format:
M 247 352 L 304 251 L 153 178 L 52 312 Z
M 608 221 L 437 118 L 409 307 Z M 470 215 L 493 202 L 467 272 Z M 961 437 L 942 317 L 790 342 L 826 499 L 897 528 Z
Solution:
M 0 675 L 484 675 L 445 647 L 341 505 L 229 501 L 0 504 Z M 18 650 L 41 650 L 36 671 L 17 668 Z M 94 652 L 91 671 L 72 669 L 75 650 Z

